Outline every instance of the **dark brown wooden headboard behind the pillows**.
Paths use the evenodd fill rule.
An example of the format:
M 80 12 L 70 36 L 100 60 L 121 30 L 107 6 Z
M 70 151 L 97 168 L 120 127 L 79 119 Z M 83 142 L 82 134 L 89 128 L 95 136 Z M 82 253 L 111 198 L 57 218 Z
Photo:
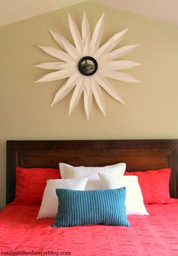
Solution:
M 7 204 L 13 201 L 16 167 L 103 166 L 125 162 L 127 170 L 170 167 L 170 195 L 178 198 L 178 139 L 7 141 Z

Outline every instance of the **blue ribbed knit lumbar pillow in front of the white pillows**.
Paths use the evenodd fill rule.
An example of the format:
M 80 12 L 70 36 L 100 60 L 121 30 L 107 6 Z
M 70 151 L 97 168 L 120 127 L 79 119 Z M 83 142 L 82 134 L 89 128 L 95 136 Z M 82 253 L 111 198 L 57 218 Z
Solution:
M 59 200 L 54 227 L 105 224 L 130 226 L 125 188 L 106 190 L 56 189 Z

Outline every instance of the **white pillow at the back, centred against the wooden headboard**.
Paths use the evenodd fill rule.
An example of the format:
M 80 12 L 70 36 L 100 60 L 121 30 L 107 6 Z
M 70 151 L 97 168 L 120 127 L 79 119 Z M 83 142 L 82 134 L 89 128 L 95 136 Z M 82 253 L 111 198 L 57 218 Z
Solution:
M 85 190 L 102 189 L 102 183 L 98 172 L 112 173 L 112 175 L 123 176 L 126 164 L 119 163 L 106 165 L 105 167 L 73 167 L 70 164 L 60 163 L 60 175 L 63 179 L 84 178 L 88 177 Z

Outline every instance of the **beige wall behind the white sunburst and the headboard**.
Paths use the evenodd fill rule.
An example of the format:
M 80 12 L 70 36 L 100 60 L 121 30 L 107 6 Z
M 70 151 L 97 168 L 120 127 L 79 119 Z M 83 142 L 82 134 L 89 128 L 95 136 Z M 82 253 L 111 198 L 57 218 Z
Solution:
M 128 70 L 140 84 L 112 80 L 127 105 L 104 93 L 104 117 L 94 103 L 87 121 L 83 101 L 69 117 L 70 93 L 49 108 L 63 81 L 35 83 L 44 73 L 32 67 L 54 61 L 36 45 L 57 46 L 48 28 L 72 41 L 67 12 L 81 23 L 86 10 L 91 28 L 103 11 L 106 28 L 103 42 L 129 28 L 121 45 L 140 44 L 124 59 L 140 62 Z M 83 3 L 19 23 L 0 27 L 0 205 L 5 205 L 5 141 L 7 139 L 170 139 L 178 138 L 178 27 L 125 11 Z

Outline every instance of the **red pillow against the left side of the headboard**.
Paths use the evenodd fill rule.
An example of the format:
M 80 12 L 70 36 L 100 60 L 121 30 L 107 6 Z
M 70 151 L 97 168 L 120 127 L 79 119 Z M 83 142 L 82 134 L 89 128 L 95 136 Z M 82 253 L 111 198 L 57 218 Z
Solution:
M 50 179 L 60 179 L 60 170 L 17 167 L 13 204 L 41 204 L 46 181 Z

